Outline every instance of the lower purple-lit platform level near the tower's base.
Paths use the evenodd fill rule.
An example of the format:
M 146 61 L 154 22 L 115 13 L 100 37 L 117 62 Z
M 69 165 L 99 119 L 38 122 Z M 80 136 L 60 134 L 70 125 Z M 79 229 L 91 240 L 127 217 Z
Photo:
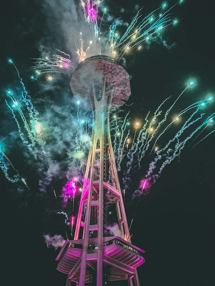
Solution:
M 125 273 L 135 273 L 135 269 L 145 262 L 143 257 L 144 250 L 132 245 L 124 239 L 114 237 L 103 238 L 103 263 L 110 266 L 111 280 L 118 280 L 117 276 L 125 275 Z M 87 271 L 85 282 L 89 281 L 89 269 L 96 269 L 97 264 L 97 238 L 89 238 L 89 245 L 87 250 Z M 66 241 L 58 254 L 56 261 L 59 261 L 57 270 L 65 273 L 72 274 L 72 281 L 78 282 L 80 276 L 80 269 L 75 269 L 77 262 L 81 259 L 83 249 L 83 239 Z M 116 267 L 117 265 L 117 267 Z M 122 279 L 122 276 L 120 277 Z M 125 279 L 127 277 L 125 276 Z

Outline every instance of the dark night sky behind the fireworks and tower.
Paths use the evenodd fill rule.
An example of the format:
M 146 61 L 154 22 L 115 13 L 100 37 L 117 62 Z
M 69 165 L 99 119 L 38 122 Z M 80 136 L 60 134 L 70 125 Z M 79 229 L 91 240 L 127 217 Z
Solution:
M 47 101 L 40 101 L 43 93 L 58 105 L 67 104 L 65 98 L 72 100 L 69 86 L 71 75 L 63 76 L 56 87 L 52 83 L 53 93 L 44 91 L 42 82 L 45 77 L 39 81 L 30 81 L 30 58 L 40 56 L 41 44 L 70 53 L 61 32 L 50 29 L 42 2 L 7 0 L 1 5 L 0 136 L 1 139 L 6 138 L 5 152 L 13 164 L 22 170 L 33 193 L 29 196 L 26 189 L 19 192 L 16 184 L 8 182 L 0 171 L 1 260 L 5 274 L 2 285 L 63 286 L 66 282 L 66 275 L 56 270 L 55 258 L 59 249 L 48 249 L 43 237 L 44 233 L 50 233 L 61 234 L 65 238 L 66 226 L 62 218 L 55 215 L 61 208 L 60 201 L 57 203 L 50 188 L 47 188 L 46 193 L 39 192 L 33 160 L 28 162 L 28 157 L 23 155 L 26 150 L 22 151 L 21 140 L 13 139 L 16 125 L 4 101 L 5 90 L 15 89 L 14 86 L 19 85 L 16 71 L 8 64 L 8 58 L 14 60 L 32 101 L 38 103 L 35 105 L 39 112 L 43 112 L 43 105 L 49 105 Z M 134 15 L 135 4 L 121 0 L 106 1 L 110 13 L 116 15 L 124 7 L 126 12 L 123 17 L 127 21 Z M 140 0 L 138 4 L 144 6 L 143 14 L 147 15 L 159 6 L 160 1 Z M 131 97 L 128 103 L 133 103 L 130 108 L 133 120 L 143 122 L 148 110 L 154 112 L 170 95 L 177 97 L 190 78 L 195 78 L 197 85 L 183 95 L 173 113 L 204 99 L 209 92 L 214 94 L 214 9 L 215 4 L 210 0 L 186 0 L 173 11 L 179 19 L 179 25 L 174 28 L 170 26 L 163 35 L 169 45 L 175 43 L 173 48 L 166 49 L 161 44 L 152 43 L 149 49 L 143 48 L 141 52 L 127 57 L 126 69 L 131 75 Z M 60 17 L 55 20 L 57 23 L 61 21 Z M 63 93 L 68 94 L 64 100 L 61 99 Z M 211 105 L 207 114 L 214 112 L 214 109 L 214 105 Z M 125 202 L 128 223 L 134 218 L 132 243 L 146 251 L 146 262 L 138 270 L 140 285 L 214 285 L 214 139 L 213 133 L 192 151 L 185 148 L 180 160 L 176 158 L 164 169 L 149 193 L 139 201 L 137 208 L 135 201 L 128 199 Z M 61 154 L 60 160 L 65 160 L 64 154 Z M 130 193 L 138 187 L 151 162 L 148 157 L 144 160 L 146 165 L 143 162 L 142 169 L 132 174 L 134 183 Z M 122 179 L 120 174 L 119 177 Z M 65 182 L 66 178 L 53 182 L 58 195 Z M 76 201 L 75 212 L 77 206 Z

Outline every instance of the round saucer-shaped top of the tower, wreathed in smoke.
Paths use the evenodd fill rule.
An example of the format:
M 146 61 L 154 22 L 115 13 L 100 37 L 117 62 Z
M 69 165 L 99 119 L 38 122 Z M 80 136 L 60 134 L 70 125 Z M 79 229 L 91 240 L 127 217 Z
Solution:
M 111 57 L 92 56 L 81 62 L 72 74 L 70 86 L 76 100 L 82 101 L 82 107 L 91 110 L 93 88 L 103 86 L 105 80 L 105 97 L 113 91 L 112 105 L 123 105 L 131 95 L 129 74 L 125 68 Z M 98 93 L 99 94 L 99 93 Z

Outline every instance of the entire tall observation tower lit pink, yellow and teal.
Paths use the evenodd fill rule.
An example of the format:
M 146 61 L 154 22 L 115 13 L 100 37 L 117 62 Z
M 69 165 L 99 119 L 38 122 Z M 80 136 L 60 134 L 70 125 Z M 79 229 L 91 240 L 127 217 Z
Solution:
M 109 128 L 111 105 L 123 105 L 131 94 L 129 75 L 114 59 L 93 56 L 76 67 L 70 85 L 76 100 L 92 110 L 92 141 L 74 240 L 58 254 L 57 270 L 68 275 L 66 286 L 114 280 L 139 286 L 137 267 L 145 251 L 131 244 Z M 107 204 L 116 206 L 120 237 L 108 236 Z

